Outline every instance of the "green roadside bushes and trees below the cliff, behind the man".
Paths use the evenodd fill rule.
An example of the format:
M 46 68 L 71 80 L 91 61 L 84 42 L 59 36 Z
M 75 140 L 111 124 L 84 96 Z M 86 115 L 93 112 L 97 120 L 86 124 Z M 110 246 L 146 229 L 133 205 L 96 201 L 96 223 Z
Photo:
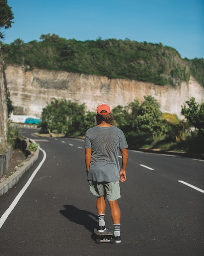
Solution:
M 128 106 L 117 106 L 112 113 L 115 126 L 127 137 L 129 148 L 204 154 L 204 103 L 198 104 L 194 98 L 182 106 L 182 120 L 162 113 L 160 104 L 150 95 L 141 104 L 135 100 Z M 53 99 L 42 110 L 39 132 L 53 137 L 83 137 L 88 128 L 96 125 L 95 115 L 85 111 L 85 104 Z

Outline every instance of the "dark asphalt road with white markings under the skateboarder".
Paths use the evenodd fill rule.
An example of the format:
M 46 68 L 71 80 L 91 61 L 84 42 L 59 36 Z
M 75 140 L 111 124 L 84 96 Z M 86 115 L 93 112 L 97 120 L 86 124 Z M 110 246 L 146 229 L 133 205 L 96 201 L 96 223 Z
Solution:
M 33 137 L 33 131 L 24 129 L 23 135 L 44 151 L 0 198 L 0 216 L 45 161 L 4 216 L 0 256 L 204 255 L 204 161 L 129 150 L 127 180 L 118 200 L 122 242 L 98 245 L 93 235 L 96 198 L 86 181 L 83 140 Z M 108 206 L 105 220 L 112 228 Z

